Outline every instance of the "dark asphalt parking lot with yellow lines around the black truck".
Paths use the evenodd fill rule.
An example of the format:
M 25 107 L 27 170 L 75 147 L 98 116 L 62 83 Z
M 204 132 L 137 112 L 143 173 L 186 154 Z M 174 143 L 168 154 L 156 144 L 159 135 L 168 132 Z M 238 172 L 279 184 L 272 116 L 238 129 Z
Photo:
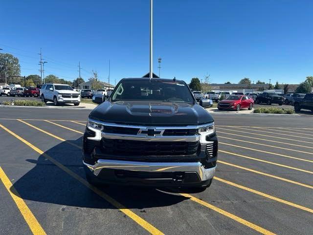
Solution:
M 0 234 L 312 235 L 311 116 L 213 114 L 216 176 L 188 194 L 89 185 L 89 112 L 0 107 Z

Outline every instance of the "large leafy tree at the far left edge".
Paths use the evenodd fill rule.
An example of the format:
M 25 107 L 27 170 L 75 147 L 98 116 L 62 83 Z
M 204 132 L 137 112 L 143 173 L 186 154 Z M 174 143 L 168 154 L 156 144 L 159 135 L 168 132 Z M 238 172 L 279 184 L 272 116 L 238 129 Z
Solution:
M 9 76 L 21 76 L 21 66 L 19 59 L 8 53 L 0 53 L 0 78 L 5 80 L 5 72 L 7 83 L 21 83 L 20 78 L 11 78 Z

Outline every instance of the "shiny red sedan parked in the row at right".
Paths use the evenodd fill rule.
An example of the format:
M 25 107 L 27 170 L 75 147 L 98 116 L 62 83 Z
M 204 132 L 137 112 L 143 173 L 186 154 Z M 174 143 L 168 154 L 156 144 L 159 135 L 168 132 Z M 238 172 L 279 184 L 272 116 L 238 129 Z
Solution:
M 217 107 L 219 110 L 252 110 L 254 100 L 246 95 L 229 95 L 226 99 L 221 100 Z

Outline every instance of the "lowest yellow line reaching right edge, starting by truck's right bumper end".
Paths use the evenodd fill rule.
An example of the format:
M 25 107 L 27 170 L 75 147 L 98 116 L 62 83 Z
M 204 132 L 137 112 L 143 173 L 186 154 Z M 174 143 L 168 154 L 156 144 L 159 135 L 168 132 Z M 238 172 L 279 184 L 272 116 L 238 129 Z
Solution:
M 230 182 L 230 181 L 227 181 L 227 180 L 224 180 L 224 179 L 221 179 L 219 177 L 214 177 L 215 180 L 218 180 L 218 181 L 221 181 L 227 185 L 231 185 L 231 186 L 234 186 L 236 188 L 241 188 L 241 189 L 244 189 L 246 191 L 249 191 L 249 192 L 252 192 L 252 193 L 255 193 L 255 194 L 258 194 L 260 196 L 263 196 L 263 197 L 266 197 L 268 199 L 271 199 L 271 200 L 274 200 L 276 202 L 280 202 L 280 203 L 283 203 L 283 204 L 286 204 L 286 205 L 289 205 L 291 207 L 295 207 L 295 208 L 298 208 L 300 210 L 303 210 L 303 211 L 308 211 L 308 212 L 311 212 L 313 213 L 313 210 L 310 209 L 310 208 L 307 208 L 307 207 L 304 207 L 304 206 L 301 206 L 301 205 L 298 205 L 298 204 L 295 204 L 295 203 L 292 203 L 292 202 L 289 202 L 289 201 L 286 201 L 286 200 L 283 200 L 283 199 L 280 199 L 278 197 L 274 197 L 274 196 L 271 196 L 269 194 L 266 194 L 264 192 L 260 192 L 260 191 L 257 191 L 255 189 L 252 189 L 252 188 L 247 188 L 245 186 L 242 186 L 242 185 L 238 185 L 236 183 L 233 183 L 233 182 Z

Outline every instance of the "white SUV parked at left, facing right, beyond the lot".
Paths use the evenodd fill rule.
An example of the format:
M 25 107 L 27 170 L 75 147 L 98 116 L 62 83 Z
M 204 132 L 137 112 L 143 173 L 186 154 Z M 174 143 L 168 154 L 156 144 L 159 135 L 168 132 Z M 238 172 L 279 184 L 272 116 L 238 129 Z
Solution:
M 44 84 L 40 89 L 40 94 L 43 102 L 52 101 L 54 105 L 73 103 L 77 106 L 80 103 L 79 92 L 65 84 Z

